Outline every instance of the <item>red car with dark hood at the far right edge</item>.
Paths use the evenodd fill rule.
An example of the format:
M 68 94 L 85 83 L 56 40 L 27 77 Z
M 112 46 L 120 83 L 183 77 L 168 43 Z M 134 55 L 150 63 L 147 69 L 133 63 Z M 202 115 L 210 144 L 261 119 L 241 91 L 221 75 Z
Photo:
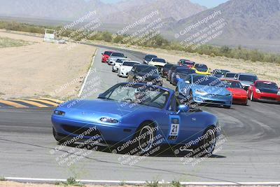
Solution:
M 280 102 L 280 89 L 271 81 L 255 81 L 248 88 L 251 101 Z

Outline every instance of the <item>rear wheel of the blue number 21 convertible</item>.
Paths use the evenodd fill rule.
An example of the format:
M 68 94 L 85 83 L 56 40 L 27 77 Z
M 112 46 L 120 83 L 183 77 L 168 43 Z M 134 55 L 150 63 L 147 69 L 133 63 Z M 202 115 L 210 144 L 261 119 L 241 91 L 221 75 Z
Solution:
M 216 146 L 216 133 L 214 132 L 214 128 L 213 127 L 207 128 L 207 130 L 205 130 L 202 137 L 204 136 L 206 136 L 207 138 L 202 139 L 202 141 L 199 142 L 199 145 L 195 147 L 196 149 L 196 152 L 194 153 L 195 157 L 204 157 L 204 156 L 210 157 L 211 155 L 213 155 L 213 151 Z

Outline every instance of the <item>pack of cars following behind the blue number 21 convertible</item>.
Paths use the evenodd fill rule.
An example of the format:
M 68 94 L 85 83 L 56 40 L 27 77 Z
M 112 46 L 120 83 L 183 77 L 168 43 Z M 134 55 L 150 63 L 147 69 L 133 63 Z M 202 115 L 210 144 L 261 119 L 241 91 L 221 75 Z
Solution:
M 246 105 L 251 101 L 280 102 L 280 88 L 272 81 L 260 81 L 255 74 L 232 73 L 224 69 L 211 71 L 206 64 L 179 60 L 169 64 L 156 55 L 146 55 L 135 62 L 123 53 L 106 51 L 102 62 L 112 65 L 118 76 L 127 81 L 162 85 L 162 78 L 176 86 L 181 101 L 189 104 L 218 104 L 230 108 L 232 104 Z M 149 72 L 149 76 L 144 75 Z M 155 81 L 154 81 L 155 80 Z

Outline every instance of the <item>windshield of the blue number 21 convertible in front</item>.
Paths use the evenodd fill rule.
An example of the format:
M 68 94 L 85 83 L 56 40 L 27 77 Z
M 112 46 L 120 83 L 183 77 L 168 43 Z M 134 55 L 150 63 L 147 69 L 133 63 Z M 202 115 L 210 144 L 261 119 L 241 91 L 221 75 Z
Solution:
M 118 84 L 100 95 L 99 99 L 118 101 L 120 107 L 139 105 L 163 109 L 170 93 L 153 85 Z

